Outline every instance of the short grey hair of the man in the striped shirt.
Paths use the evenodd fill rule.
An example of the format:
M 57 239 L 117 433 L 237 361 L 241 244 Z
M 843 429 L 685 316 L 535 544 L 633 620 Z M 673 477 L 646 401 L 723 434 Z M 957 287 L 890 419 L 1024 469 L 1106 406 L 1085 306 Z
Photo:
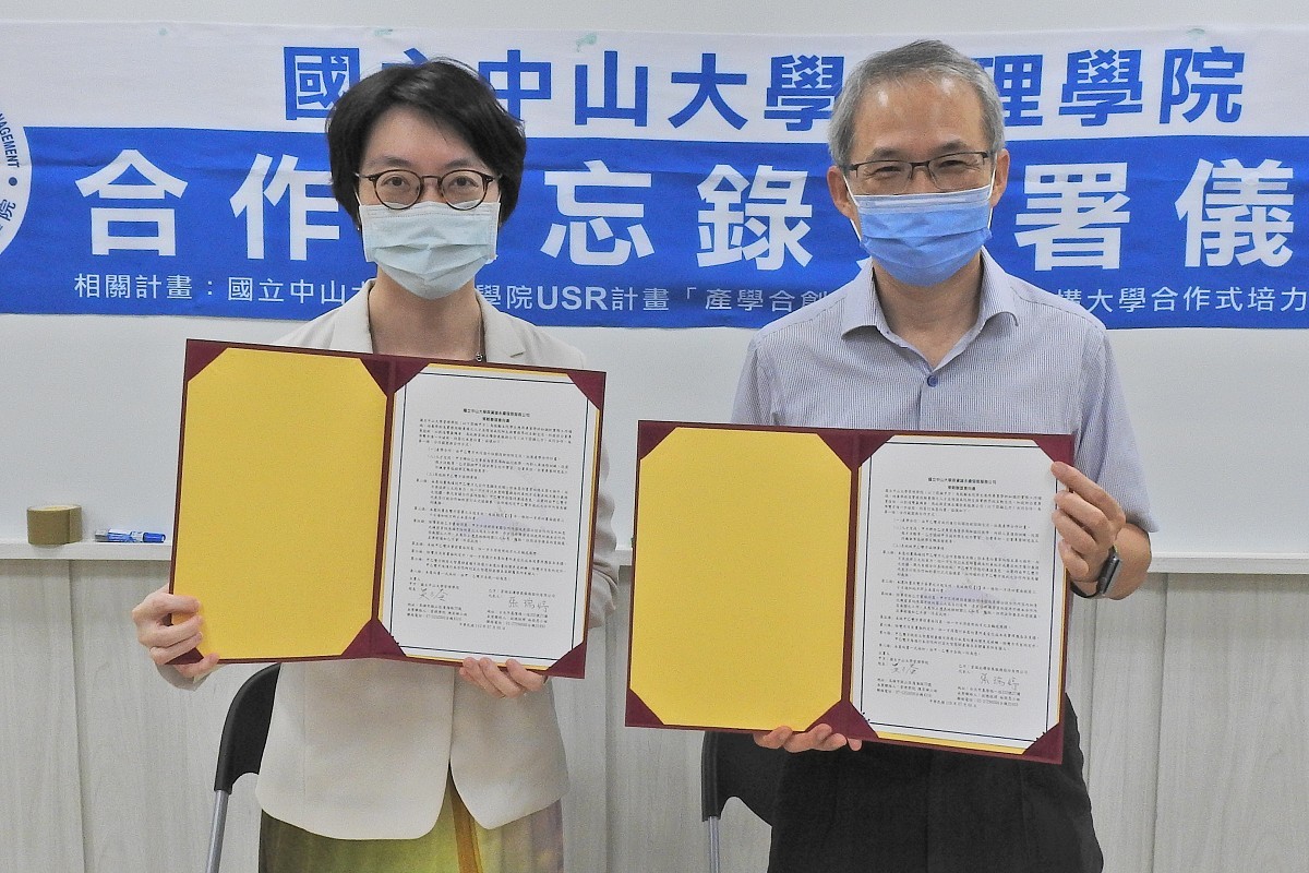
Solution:
M 855 116 L 869 89 L 885 82 L 915 79 L 957 79 L 966 82 L 982 105 L 982 128 L 987 136 L 987 149 L 995 154 L 1004 148 L 1004 109 L 995 80 L 978 62 L 939 39 L 919 39 L 899 48 L 881 51 L 859 62 L 836 97 L 827 126 L 827 148 L 836 166 L 851 162 L 855 147 Z

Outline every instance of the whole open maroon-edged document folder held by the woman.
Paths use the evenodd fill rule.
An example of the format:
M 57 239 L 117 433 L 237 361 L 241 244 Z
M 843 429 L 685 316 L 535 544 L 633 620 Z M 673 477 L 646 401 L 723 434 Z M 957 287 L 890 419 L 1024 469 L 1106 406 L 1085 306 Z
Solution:
M 605 374 L 188 340 L 182 660 L 585 662 Z

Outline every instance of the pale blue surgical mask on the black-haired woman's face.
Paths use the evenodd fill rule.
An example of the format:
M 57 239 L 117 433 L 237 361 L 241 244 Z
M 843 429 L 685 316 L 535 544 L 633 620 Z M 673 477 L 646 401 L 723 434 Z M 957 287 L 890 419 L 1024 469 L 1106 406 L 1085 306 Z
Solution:
M 452 209 L 415 203 L 407 209 L 361 205 L 364 257 L 412 294 L 437 300 L 466 285 L 495 260 L 500 204 Z

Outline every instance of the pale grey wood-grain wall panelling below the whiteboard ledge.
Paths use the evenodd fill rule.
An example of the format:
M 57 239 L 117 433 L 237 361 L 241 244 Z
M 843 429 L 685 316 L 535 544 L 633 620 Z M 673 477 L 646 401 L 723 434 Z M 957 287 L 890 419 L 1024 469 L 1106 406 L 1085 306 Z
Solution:
M 1305 572 L 1155 575 L 1123 602 L 1075 601 L 1068 694 L 1106 873 L 1305 869 Z M 191 694 L 158 678 L 127 611 L 166 579 L 166 559 L 0 555 L 0 870 L 202 869 L 223 713 L 254 668 Z M 702 734 L 623 726 L 626 653 L 617 618 L 592 637 L 586 679 L 556 685 L 568 872 L 707 870 Z M 229 815 L 224 870 L 253 870 L 251 779 Z M 723 834 L 724 873 L 763 869 L 768 830 L 737 801 Z

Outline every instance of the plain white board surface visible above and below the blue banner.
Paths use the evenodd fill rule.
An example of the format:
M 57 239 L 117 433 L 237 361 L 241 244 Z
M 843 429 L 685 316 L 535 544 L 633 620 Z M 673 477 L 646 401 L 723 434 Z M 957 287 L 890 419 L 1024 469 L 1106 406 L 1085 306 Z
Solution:
M 1090 7 L 1031 1 L 1009 4 L 1004 13 L 997 4 L 880 5 L 876 14 L 873 9 L 855 0 L 816 5 L 520 0 L 437 9 L 395 0 L 9 0 L 0 14 L 724 33 L 859 33 L 876 25 L 881 33 L 906 38 L 1009 29 L 1309 25 L 1309 5 L 1299 0 L 1242 7 L 1203 0 L 1187 4 L 1185 12 L 1162 0 L 1107 0 Z M 0 283 L 3 270 L 0 258 Z M 288 327 L 240 319 L 0 314 L 0 385 L 8 393 L 0 407 L 0 539 L 24 538 L 26 507 L 50 503 L 81 504 L 88 530 L 110 525 L 169 530 L 183 340 L 268 342 Z M 593 366 L 609 372 L 606 444 L 618 495 L 617 526 L 626 542 L 636 420 L 725 418 L 749 334 L 729 329 L 558 332 L 586 351 Z M 1118 331 L 1114 346 L 1164 527 L 1156 550 L 1309 552 L 1309 525 L 1300 521 L 1309 514 L 1304 496 L 1309 467 L 1292 462 L 1309 437 L 1309 415 L 1291 402 L 1295 374 L 1309 369 L 1305 334 Z

